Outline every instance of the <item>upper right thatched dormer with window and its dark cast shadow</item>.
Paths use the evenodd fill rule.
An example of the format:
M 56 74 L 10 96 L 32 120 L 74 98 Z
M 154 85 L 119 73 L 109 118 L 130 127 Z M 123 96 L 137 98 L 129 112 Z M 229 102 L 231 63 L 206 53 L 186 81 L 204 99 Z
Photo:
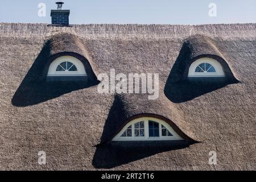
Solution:
M 231 57 L 224 55 L 216 39 L 203 35 L 184 40 L 164 86 L 164 94 L 175 103 L 191 101 L 239 81 Z

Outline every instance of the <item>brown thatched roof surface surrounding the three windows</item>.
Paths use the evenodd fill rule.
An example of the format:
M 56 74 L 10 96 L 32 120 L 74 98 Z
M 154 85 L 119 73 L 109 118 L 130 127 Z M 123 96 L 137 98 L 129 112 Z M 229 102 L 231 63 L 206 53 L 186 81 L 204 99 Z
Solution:
M 45 82 L 49 63 L 69 54 L 86 65 L 92 84 Z M 227 79 L 184 79 L 202 56 L 220 61 Z M 0 23 L 0 169 L 255 170 L 255 60 L 256 24 Z M 96 75 L 112 68 L 159 73 L 158 100 L 99 94 Z M 186 140 L 109 142 L 144 115 L 164 119 Z

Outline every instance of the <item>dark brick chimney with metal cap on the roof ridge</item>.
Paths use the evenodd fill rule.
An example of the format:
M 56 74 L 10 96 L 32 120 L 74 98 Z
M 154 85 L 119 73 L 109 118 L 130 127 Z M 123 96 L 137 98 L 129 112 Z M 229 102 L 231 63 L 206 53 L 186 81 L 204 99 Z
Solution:
M 52 26 L 69 26 L 70 10 L 63 10 L 64 2 L 58 1 L 57 10 L 51 10 Z

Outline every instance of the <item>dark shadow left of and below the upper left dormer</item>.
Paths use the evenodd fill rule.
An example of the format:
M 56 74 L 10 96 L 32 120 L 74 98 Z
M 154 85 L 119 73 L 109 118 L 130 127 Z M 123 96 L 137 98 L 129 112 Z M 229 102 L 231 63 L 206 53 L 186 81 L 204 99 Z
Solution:
M 11 100 L 14 106 L 26 107 L 36 105 L 63 94 L 98 84 L 96 81 L 90 82 L 90 84 L 81 81 L 47 82 L 46 65 L 49 65 L 50 62 L 50 44 L 50 42 L 47 42 L 44 45 L 34 64 L 32 64 L 32 67 L 16 90 Z

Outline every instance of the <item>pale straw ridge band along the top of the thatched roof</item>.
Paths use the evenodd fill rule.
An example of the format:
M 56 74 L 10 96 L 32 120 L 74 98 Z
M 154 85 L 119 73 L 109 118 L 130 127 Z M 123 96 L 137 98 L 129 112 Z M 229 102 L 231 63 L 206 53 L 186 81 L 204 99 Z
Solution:
M 232 32 L 230 32 L 232 31 Z M 244 31 L 249 31 L 245 32 Z M 48 26 L 46 23 L 0 23 L 0 36 L 45 36 L 69 32 L 79 36 L 157 36 L 184 37 L 205 34 L 213 37 L 250 37 L 256 34 L 256 23 L 237 24 L 75 24 L 72 27 Z

